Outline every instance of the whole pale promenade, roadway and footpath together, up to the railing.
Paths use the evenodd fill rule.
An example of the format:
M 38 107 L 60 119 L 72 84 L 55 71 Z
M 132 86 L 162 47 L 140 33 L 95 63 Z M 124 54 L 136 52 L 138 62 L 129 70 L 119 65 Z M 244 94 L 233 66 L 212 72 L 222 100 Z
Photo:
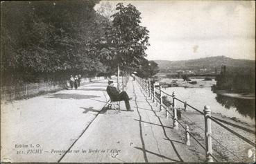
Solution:
M 4 107 L 1 110 L 1 131 L 4 131 L 1 161 L 152 163 L 204 160 L 205 154 L 185 145 L 185 135 L 180 134 L 182 130 L 172 129 L 171 118 L 165 118 L 164 112 L 146 97 L 137 82 L 130 81 L 127 86 L 134 111 L 126 111 L 124 102 L 121 102 L 120 112 L 107 110 L 104 107 L 108 100 L 106 86 L 107 80 L 103 80 L 77 91 L 59 91 L 1 105 L 1 109 Z M 19 154 L 22 151 L 23 154 Z

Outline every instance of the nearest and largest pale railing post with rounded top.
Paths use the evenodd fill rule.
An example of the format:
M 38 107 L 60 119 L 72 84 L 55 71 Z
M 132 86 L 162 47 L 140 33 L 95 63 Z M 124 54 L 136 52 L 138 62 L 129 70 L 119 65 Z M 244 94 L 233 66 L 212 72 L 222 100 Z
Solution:
M 205 113 L 205 145 L 206 145 L 206 161 L 213 162 L 212 160 L 212 127 L 211 127 L 211 109 L 208 105 L 203 110 Z

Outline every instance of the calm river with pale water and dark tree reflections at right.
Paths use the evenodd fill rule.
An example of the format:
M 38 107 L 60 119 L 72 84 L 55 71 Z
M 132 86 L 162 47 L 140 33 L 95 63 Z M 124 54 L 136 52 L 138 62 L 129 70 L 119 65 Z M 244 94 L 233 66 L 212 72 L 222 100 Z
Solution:
M 176 91 L 176 98 L 187 101 L 188 104 L 200 111 L 203 111 L 205 105 L 209 105 L 214 113 L 221 113 L 223 116 L 237 118 L 242 122 L 255 125 L 255 99 L 230 98 L 213 93 L 211 87 L 171 87 L 163 89 L 163 91 L 169 94 Z M 183 108 L 183 104 L 178 102 L 177 107 Z M 193 109 L 188 108 L 188 110 Z

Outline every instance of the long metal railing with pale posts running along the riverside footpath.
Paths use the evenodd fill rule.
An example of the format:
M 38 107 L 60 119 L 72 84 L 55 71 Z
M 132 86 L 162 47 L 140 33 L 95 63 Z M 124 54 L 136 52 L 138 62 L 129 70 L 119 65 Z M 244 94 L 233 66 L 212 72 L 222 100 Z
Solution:
M 162 86 L 160 84 L 151 84 L 150 80 L 145 80 L 139 77 L 136 77 L 137 82 L 142 86 L 142 88 L 144 89 L 144 91 L 146 92 L 146 94 L 148 95 L 148 97 L 150 97 L 153 102 L 156 102 L 156 104 L 159 104 L 159 109 L 160 111 L 162 111 L 162 109 L 165 109 L 165 116 L 168 118 L 168 114 L 170 114 L 173 118 L 173 129 L 179 129 L 180 125 L 183 129 L 185 129 L 186 131 L 186 145 L 190 145 L 190 140 L 189 140 L 189 136 L 191 136 L 192 138 L 194 138 L 194 140 L 196 140 L 196 143 L 198 143 L 198 145 L 200 145 L 200 147 L 202 147 L 203 149 L 205 149 L 205 158 L 207 162 L 213 162 L 216 161 L 218 162 L 218 160 L 216 159 L 215 156 L 213 156 L 212 153 L 212 122 L 215 122 L 217 125 L 223 127 L 225 130 L 229 131 L 230 133 L 232 133 L 234 136 L 237 136 L 238 138 L 240 138 L 241 140 L 244 140 L 246 143 L 252 145 L 253 147 L 255 147 L 255 143 L 252 142 L 251 140 L 248 140 L 247 138 L 245 138 L 244 136 L 241 136 L 240 134 L 238 134 L 237 132 L 233 131 L 232 129 L 230 129 L 229 127 L 226 127 L 225 125 L 223 125 L 221 122 L 218 121 L 218 118 L 214 118 L 211 116 L 211 109 L 210 106 L 205 105 L 203 112 L 200 111 L 199 109 L 196 109 L 195 107 L 192 107 L 190 104 L 187 104 L 187 102 L 184 102 L 178 98 L 176 98 L 176 92 L 173 91 L 173 94 L 170 95 L 168 93 L 165 93 L 164 91 L 162 91 Z M 169 96 L 169 98 L 171 98 L 172 102 L 170 102 L 170 100 L 164 100 L 163 102 L 163 94 L 167 95 L 167 97 Z M 185 104 L 187 107 L 190 107 L 191 109 L 194 109 L 194 111 L 197 111 L 198 113 L 200 113 L 201 115 L 204 116 L 204 124 L 205 124 L 205 146 L 200 143 L 199 140 L 196 139 L 196 137 L 191 134 L 191 132 L 189 132 L 189 126 L 186 125 L 182 125 L 182 123 L 180 121 L 178 121 L 178 117 L 177 117 L 177 101 L 181 102 L 182 104 Z M 171 113 L 172 111 L 172 113 Z M 255 131 L 254 131 L 255 132 Z M 219 143 L 218 140 L 216 138 L 213 138 L 216 143 Z M 225 147 L 225 149 L 227 149 Z M 228 150 L 228 149 L 227 149 Z M 233 154 L 230 150 L 228 150 L 231 154 Z M 233 154 L 236 158 L 238 158 L 235 154 Z M 239 158 L 238 158 L 239 159 Z

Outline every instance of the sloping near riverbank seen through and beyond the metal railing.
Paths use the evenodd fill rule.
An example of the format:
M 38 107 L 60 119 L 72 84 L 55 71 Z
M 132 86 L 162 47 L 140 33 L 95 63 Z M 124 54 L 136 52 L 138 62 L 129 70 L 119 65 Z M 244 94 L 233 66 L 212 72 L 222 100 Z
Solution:
M 170 88 L 171 89 L 171 88 Z M 196 89 L 198 91 L 198 89 Z M 180 92 L 181 93 L 181 92 Z M 145 93 L 146 94 L 146 93 Z M 179 94 L 178 94 L 179 95 Z M 152 102 L 151 98 L 146 98 L 148 102 Z M 201 99 L 200 99 L 201 100 Z M 203 100 L 205 103 L 206 101 Z M 200 102 L 200 104 L 202 104 Z M 155 107 L 155 103 L 151 103 L 152 107 Z M 189 132 L 193 136 L 190 136 L 190 146 L 187 147 L 190 151 L 194 152 L 194 156 L 198 158 L 204 158 L 205 156 L 205 118 L 204 115 L 198 113 L 194 109 L 187 107 L 187 111 L 182 110 L 182 105 L 177 102 L 177 107 L 181 108 L 180 114 L 178 114 L 178 121 L 182 125 L 178 125 L 179 129 L 176 129 L 175 133 L 178 138 L 182 140 L 182 143 L 186 142 L 186 131 L 182 127 L 189 126 Z M 159 105 L 157 105 L 157 111 L 159 111 Z M 214 105 L 212 106 L 214 109 Z M 172 127 L 173 110 L 170 109 L 171 115 L 165 118 L 164 109 L 160 112 L 159 116 L 162 118 L 162 123 L 165 126 Z M 234 118 L 228 118 L 221 113 L 212 111 L 212 118 L 215 118 L 225 127 L 228 127 L 232 132 L 221 127 L 214 121 L 211 121 L 212 127 L 212 152 L 214 155 L 214 162 L 240 162 L 240 163 L 253 163 L 252 158 L 248 158 L 248 149 L 252 149 L 253 145 L 250 145 L 241 138 L 250 140 L 250 143 L 255 143 L 255 125 L 249 125 L 245 122 L 239 122 Z M 243 136 L 239 138 L 239 136 Z M 196 138 L 196 140 L 194 139 Z M 198 142 L 200 144 L 198 144 Z M 202 147 L 203 146 L 203 147 Z M 216 160 L 215 160 L 216 158 Z

